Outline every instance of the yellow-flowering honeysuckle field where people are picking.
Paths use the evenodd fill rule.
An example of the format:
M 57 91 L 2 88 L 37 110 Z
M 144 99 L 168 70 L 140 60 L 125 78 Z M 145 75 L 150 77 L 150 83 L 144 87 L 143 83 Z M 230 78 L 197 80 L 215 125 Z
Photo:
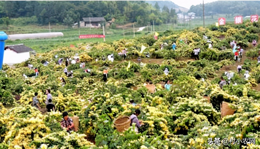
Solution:
M 252 89 L 260 83 L 260 66 L 256 58 L 260 47 L 252 47 L 258 41 L 260 23 L 245 22 L 238 26 L 197 28 L 192 31 L 160 33 L 142 38 L 121 39 L 111 43 L 82 43 L 74 48 L 53 49 L 37 53 L 15 67 L 3 66 L 0 72 L 0 148 L 242 148 L 241 145 L 209 145 L 208 138 L 256 138 L 260 137 L 260 92 Z M 213 42 L 203 39 L 203 33 Z M 187 44 L 179 41 L 186 39 Z M 245 53 L 242 74 L 250 71 L 244 80 L 236 70 L 231 41 L 237 41 Z M 168 43 L 162 50 L 160 44 Z M 172 50 L 175 42 L 177 50 Z M 143 52 L 141 47 L 147 47 Z M 223 49 L 226 47 L 227 49 Z M 127 59 L 118 55 L 127 48 Z M 200 60 L 192 57 L 193 49 L 200 48 Z M 145 58 L 149 53 L 150 58 Z M 80 63 L 69 65 L 73 77 L 66 77 L 65 64 L 58 59 L 76 54 L 91 74 L 80 68 Z M 103 61 L 101 57 L 114 54 L 115 61 Z M 58 58 L 55 58 L 58 55 Z M 138 63 L 137 58 L 142 62 Z M 98 61 L 95 61 L 98 59 Z M 48 66 L 43 63 L 48 61 Z M 130 63 L 129 63 L 130 62 Z M 38 77 L 32 76 L 28 64 L 38 68 Z M 130 64 L 130 68 L 128 65 Z M 104 82 L 103 70 L 109 68 L 108 81 Z M 168 68 L 166 76 L 163 71 Z M 225 69 L 235 72 L 230 85 L 221 89 L 221 76 Z M 63 77 L 66 84 L 60 82 Z M 203 79 L 205 81 L 203 81 Z M 169 91 L 163 88 L 170 80 Z M 156 92 L 150 94 L 144 83 L 152 81 Z M 236 86 L 233 86 L 237 83 Z M 45 90 L 50 88 L 56 112 L 41 113 L 32 107 L 32 98 L 38 92 L 41 107 L 45 106 Z M 203 96 L 210 96 L 210 103 Z M 139 104 L 128 104 L 129 100 Z M 235 109 L 233 115 L 221 118 L 220 103 L 229 102 Z M 138 116 L 144 125 L 135 133 L 134 126 L 123 133 L 113 125 L 115 118 L 130 116 L 140 108 Z M 67 134 L 60 127 L 62 112 L 80 118 L 79 131 Z

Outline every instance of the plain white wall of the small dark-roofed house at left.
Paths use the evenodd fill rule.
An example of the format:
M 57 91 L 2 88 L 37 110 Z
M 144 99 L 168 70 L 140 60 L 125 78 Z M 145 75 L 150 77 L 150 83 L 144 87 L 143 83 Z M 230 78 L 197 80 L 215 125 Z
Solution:
M 13 50 L 4 50 L 3 64 L 17 64 L 30 58 L 30 52 L 16 53 Z

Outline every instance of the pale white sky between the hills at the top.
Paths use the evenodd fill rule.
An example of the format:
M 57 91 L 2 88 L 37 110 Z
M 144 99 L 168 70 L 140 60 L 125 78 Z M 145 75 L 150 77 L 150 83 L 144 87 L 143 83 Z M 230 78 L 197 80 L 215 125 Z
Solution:
M 177 4 L 180 7 L 184 7 L 187 9 L 190 9 L 190 6 L 192 5 L 199 5 L 203 3 L 203 0 L 169 0 L 172 1 L 173 3 Z M 215 2 L 217 0 L 204 0 L 204 4 L 206 3 L 211 3 L 211 2 Z M 243 1 L 247 1 L 247 0 L 243 0 Z

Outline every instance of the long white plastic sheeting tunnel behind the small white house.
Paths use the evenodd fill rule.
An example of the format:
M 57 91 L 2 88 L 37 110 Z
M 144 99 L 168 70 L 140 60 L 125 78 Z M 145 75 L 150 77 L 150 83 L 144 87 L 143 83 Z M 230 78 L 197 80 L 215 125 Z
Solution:
M 52 33 L 34 33 L 34 34 L 14 34 L 8 35 L 9 40 L 16 39 L 39 39 L 39 38 L 53 38 L 63 36 L 62 32 L 52 32 Z

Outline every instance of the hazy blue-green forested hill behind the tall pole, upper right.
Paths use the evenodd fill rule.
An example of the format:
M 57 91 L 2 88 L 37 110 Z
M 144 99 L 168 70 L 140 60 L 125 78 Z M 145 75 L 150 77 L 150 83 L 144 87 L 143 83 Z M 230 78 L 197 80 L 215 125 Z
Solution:
M 205 15 L 212 14 L 241 14 L 248 16 L 260 13 L 260 1 L 216 1 L 205 4 Z M 196 16 L 203 15 L 203 7 L 192 5 L 189 12 L 196 13 Z

